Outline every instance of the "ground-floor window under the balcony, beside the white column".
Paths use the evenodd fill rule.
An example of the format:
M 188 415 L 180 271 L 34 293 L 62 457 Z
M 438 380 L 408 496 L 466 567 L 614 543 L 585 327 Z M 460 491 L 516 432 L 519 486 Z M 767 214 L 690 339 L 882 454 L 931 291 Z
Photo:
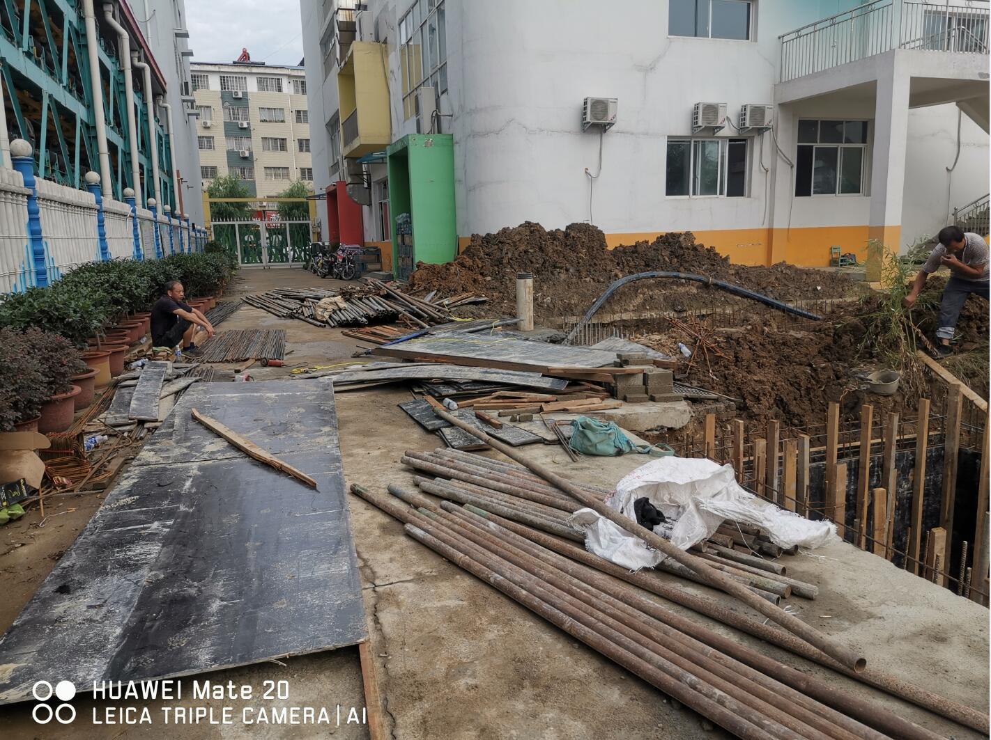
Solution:
M 795 195 L 863 195 L 867 122 L 801 119 Z

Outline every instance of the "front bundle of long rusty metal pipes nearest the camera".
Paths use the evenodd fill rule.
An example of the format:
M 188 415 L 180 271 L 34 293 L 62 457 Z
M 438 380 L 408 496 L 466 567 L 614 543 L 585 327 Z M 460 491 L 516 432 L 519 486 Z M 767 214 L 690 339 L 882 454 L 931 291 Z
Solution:
M 737 737 L 938 737 L 858 694 L 838 690 L 644 598 L 581 564 L 596 556 L 580 547 L 471 506 L 437 506 L 394 485 L 388 492 L 395 498 L 358 485 L 351 491 L 404 522 L 413 539 Z M 609 573 L 608 566 L 598 570 Z M 624 581 L 639 576 L 611 567 L 610 575 Z M 711 614 L 723 608 L 712 603 Z M 795 639 L 725 611 L 731 615 L 727 623 L 749 620 L 752 629 Z

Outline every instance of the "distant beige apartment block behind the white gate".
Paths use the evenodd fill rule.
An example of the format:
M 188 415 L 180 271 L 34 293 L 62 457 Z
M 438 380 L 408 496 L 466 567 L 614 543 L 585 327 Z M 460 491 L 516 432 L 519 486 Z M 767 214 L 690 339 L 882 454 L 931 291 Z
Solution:
M 306 76 L 301 66 L 195 63 L 192 95 L 204 185 L 222 175 L 252 195 L 275 196 L 313 181 Z

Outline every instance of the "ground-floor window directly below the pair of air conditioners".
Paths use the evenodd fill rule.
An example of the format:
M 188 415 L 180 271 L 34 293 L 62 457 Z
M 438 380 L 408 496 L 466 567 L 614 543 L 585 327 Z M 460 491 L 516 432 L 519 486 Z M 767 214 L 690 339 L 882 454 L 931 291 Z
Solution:
M 747 194 L 749 139 L 668 139 L 665 195 Z

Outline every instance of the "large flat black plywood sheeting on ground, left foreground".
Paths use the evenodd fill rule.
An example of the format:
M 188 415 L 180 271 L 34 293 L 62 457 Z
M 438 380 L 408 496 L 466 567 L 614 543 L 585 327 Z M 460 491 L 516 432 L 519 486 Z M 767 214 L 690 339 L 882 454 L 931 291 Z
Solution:
M 194 675 L 366 637 L 333 390 L 197 384 L 0 638 L 0 703 L 36 681 Z M 313 490 L 189 417 L 196 408 Z

